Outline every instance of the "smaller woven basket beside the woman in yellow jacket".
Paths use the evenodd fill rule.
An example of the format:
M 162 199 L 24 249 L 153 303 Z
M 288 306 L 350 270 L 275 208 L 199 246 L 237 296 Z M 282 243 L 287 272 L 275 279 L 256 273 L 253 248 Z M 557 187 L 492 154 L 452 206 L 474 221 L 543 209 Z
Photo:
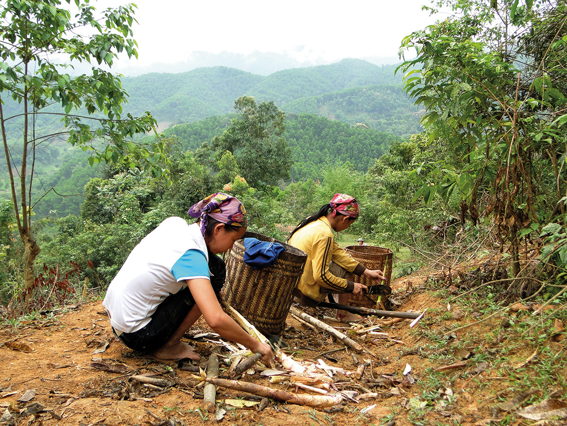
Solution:
M 359 264 L 366 266 L 367 269 L 381 270 L 384 273 L 384 278 L 386 278 L 385 281 L 378 282 L 374 279 L 370 279 L 366 275 L 355 275 L 354 282 L 359 282 L 367 287 L 378 284 L 386 286 L 390 285 L 390 279 L 392 278 L 392 250 L 383 247 L 375 247 L 374 245 L 349 245 L 345 248 L 345 252 L 350 254 L 350 256 L 352 256 L 354 260 L 359 262 Z M 367 297 L 374 300 L 374 303 L 370 302 Z M 378 300 L 378 295 L 376 294 L 370 294 L 366 296 L 356 296 L 354 294 L 351 294 L 349 298 L 349 305 L 365 308 L 375 308 L 376 300 Z

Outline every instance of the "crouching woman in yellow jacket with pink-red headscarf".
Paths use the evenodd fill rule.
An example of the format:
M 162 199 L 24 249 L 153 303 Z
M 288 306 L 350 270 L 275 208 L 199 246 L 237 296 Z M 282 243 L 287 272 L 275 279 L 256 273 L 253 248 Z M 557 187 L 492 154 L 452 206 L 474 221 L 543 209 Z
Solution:
M 297 302 L 315 307 L 328 293 L 338 293 L 338 302 L 348 304 L 350 293 L 361 294 L 366 286 L 353 282 L 354 275 L 382 281 L 382 271 L 366 269 L 338 247 L 333 231 L 341 232 L 358 219 L 358 202 L 350 195 L 335 194 L 318 212 L 295 227 L 289 244 L 307 253 L 307 262 L 295 291 Z M 337 311 L 337 319 L 353 321 L 359 316 Z

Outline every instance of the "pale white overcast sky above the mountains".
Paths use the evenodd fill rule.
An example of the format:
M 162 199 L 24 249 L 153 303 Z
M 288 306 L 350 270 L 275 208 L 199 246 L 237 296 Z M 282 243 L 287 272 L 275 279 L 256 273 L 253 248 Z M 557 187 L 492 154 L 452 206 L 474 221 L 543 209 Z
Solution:
M 97 9 L 127 3 L 99 0 Z M 171 72 L 196 66 L 289 59 L 296 66 L 329 64 L 344 58 L 398 62 L 400 41 L 439 19 L 421 10 L 429 0 L 134 0 L 138 60 L 120 59 L 125 75 Z M 382 59 L 382 60 L 381 60 Z M 177 64 L 177 65 L 175 65 Z M 270 64 L 265 64 L 270 65 Z M 156 69 L 157 68 L 157 69 Z M 187 69 L 184 69 L 187 68 Z M 286 67 L 287 68 L 287 67 Z M 253 71 L 252 71 L 253 72 Z M 269 71 L 266 71 L 269 72 Z

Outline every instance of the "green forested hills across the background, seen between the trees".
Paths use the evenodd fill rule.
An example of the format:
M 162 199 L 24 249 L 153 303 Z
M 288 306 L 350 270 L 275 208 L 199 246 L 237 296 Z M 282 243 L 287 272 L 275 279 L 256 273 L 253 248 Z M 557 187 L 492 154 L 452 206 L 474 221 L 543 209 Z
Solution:
M 420 107 L 403 93 L 400 74 L 395 75 L 394 71 L 395 65 L 343 60 L 332 65 L 284 70 L 267 77 L 222 66 L 180 74 L 124 77 L 122 86 L 129 98 L 123 114 L 139 115 L 149 110 L 162 126 L 177 123 L 175 130 L 163 131 L 164 136 L 175 135 L 185 149 L 195 151 L 229 126 L 239 95 L 251 93 L 257 101 L 265 99 L 276 105 L 280 102 L 279 107 L 288 115 L 284 138 L 293 150 L 290 178 L 320 179 L 325 162 L 350 161 L 357 170 L 365 171 L 387 151 L 391 140 L 421 131 Z M 17 118 L 23 116 L 22 105 L 7 99 L 4 108 L 7 141 L 22 147 L 22 119 Z M 49 214 L 77 214 L 82 187 L 97 173 L 84 168 L 88 153 L 66 149 L 57 111 L 61 112 L 57 104 L 45 105 L 46 114 L 35 116 L 35 126 L 43 133 L 33 161 L 40 178 L 32 187 L 32 198 L 39 199 L 33 208 L 41 218 Z M 306 119 L 304 112 L 327 119 L 320 120 L 315 115 Z M 297 116 L 301 117 L 301 129 L 297 128 L 300 123 L 295 123 Z M 12 161 L 20 165 L 21 155 L 16 151 L 21 152 L 21 148 L 12 154 Z M 5 163 L 0 165 L 0 195 L 9 197 L 6 167 Z

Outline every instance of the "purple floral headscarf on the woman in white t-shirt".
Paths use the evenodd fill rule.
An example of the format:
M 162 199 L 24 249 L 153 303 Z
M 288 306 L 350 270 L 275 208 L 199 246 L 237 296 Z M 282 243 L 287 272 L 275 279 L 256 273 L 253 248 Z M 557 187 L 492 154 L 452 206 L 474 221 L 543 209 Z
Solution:
M 246 209 L 236 197 L 223 193 L 209 195 L 194 204 L 187 212 L 193 218 L 201 218 L 201 233 L 205 235 L 207 218 L 213 218 L 227 225 L 248 226 Z

